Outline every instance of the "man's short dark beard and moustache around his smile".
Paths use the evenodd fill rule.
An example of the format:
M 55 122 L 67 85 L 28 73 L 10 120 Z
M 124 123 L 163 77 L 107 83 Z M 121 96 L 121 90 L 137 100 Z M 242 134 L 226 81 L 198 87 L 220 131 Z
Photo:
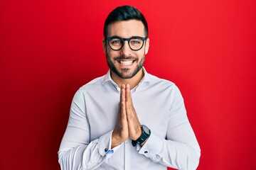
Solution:
M 132 77 L 134 77 L 139 72 L 139 70 L 142 69 L 145 61 L 145 55 L 144 55 L 144 57 L 142 57 L 142 60 L 139 62 L 139 64 L 137 64 L 137 67 L 136 69 L 134 69 L 133 72 L 130 72 L 131 69 L 128 69 L 128 68 L 123 68 L 121 69 L 121 71 L 119 71 L 117 70 L 117 67 L 114 66 L 114 62 L 112 62 L 111 57 L 108 53 L 106 57 L 107 57 L 107 65 L 110 67 L 110 70 L 115 74 L 117 74 L 117 76 L 122 79 L 131 79 Z M 114 57 L 113 60 L 119 61 L 119 60 L 131 60 L 131 59 L 134 60 L 134 62 L 139 61 L 137 58 L 125 57 L 125 56 Z

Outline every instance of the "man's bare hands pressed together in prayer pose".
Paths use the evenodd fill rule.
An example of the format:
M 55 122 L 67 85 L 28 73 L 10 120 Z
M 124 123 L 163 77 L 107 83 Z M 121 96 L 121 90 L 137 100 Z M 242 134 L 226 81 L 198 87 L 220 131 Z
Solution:
M 117 115 L 117 124 L 112 132 L 112 145 L 116 147 L 128 138 L 137 140 L 142 135 L 141 124 L 132 103 L 130 85 L 122 84 L 120 93 L 120 109 Z

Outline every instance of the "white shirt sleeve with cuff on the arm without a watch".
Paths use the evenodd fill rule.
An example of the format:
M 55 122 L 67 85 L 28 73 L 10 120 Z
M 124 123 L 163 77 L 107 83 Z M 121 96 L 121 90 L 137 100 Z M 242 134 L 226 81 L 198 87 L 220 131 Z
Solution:
M 119 148 L 111 149 L 112 131 L 90 142 L 85 111 L 84 96 L 78 90 L 71 104 L 68 127 L 58 151 L 58 162 L 62 170 L 96 169 Z

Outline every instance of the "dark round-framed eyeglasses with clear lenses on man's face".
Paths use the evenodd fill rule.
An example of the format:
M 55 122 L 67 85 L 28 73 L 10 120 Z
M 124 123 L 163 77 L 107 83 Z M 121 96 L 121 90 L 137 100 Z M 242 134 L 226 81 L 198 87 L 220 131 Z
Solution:
M 134 36 L 132 38 L 120 38 L 119 36 L 114 35 L 112 37 L 105 38 L 105 40 L 107 40 L 108 45 L 114 51 L 121 50 L 124 46 L 125 40 L 128 41 L 128 45 L 131 50 L 138 51 L 142 49 L 144 45 L 144 40 L 146 40 L 146 38 L 142 38 L 139 36 Z

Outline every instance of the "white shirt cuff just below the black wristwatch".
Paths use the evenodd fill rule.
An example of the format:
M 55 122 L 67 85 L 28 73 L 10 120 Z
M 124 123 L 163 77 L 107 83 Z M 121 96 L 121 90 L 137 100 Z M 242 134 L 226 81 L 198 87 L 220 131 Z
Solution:
M 139 154 L 144 154 L 146 157 L 155 157 L 156 154 L 159 154 L 163 145 L 163 139 L 154 134 L 154 132 L 151 132 L 151 135 L 148 140 L 146 140 L 143 147 L 139 145 L 139 147 L 137 147 L 137 151 Z

